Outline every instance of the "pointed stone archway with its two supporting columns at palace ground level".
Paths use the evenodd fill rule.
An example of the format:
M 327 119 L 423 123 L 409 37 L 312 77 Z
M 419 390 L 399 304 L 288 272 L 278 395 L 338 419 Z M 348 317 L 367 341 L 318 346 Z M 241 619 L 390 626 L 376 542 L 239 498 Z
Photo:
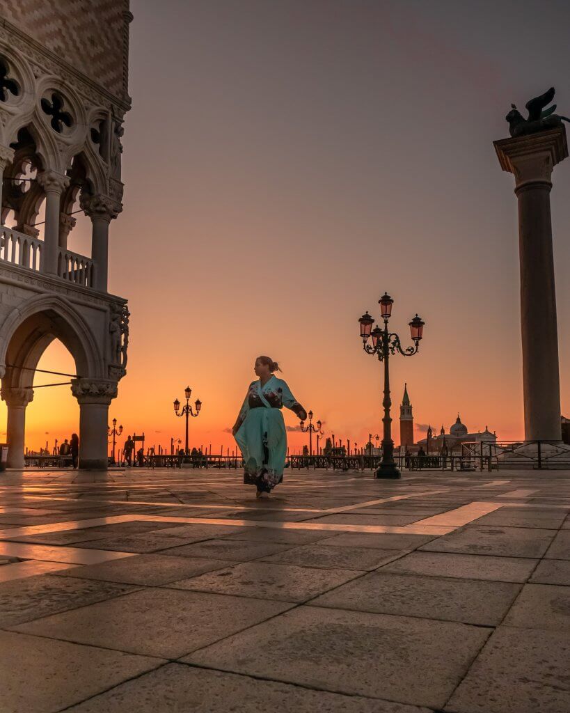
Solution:
M 117 382 L 105 379 L 105 360 L 87 322 L 63 297 L 28 299 L 0 328 L 1 397 L 8 408 L 8 466 L 24 467 L 26 406 L 33 399 L 33 377 L 41 355 L 59 339 L 76 365 L 72 393 L 80 406 L 80 468 L 107 468 L 107 422 Z

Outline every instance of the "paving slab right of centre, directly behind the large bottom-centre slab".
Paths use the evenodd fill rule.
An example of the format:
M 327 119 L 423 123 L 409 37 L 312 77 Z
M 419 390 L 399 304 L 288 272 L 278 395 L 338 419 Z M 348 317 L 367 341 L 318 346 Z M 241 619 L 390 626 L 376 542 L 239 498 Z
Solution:
M 497 626 L 521 585 L 371 572 L 311 602 L 379 614 Z

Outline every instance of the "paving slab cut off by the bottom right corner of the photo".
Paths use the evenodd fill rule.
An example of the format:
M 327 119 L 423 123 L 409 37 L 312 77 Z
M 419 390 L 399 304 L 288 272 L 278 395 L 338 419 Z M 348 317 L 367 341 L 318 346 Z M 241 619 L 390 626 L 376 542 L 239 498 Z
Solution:
M 499 627 L 445 711 L 568 713 L 569 660 L 567 632 Z

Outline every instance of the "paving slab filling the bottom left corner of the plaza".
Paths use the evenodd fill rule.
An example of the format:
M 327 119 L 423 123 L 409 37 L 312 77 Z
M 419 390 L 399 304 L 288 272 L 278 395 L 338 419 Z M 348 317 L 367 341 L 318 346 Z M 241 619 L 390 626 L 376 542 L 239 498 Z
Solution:
M 53 713 L 162 665 L 162 660 L 0 632 L 0 710 Z

